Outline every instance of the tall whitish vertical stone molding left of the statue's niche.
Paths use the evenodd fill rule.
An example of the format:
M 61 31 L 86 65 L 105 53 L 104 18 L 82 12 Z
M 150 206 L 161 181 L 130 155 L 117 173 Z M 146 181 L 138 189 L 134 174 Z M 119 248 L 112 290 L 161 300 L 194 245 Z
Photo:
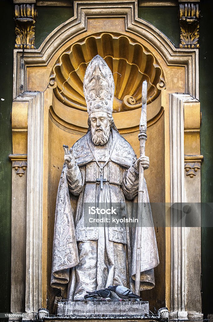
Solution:
M 39 92 L 25 93 L 24 98 L 29 101 L 25 309 L 30 313 L 41 307 L 44 102 Z

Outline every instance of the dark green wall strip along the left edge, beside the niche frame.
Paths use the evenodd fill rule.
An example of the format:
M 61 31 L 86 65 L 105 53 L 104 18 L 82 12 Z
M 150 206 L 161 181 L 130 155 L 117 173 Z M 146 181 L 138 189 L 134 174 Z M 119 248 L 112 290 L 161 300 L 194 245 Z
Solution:
M 12 170 L 8 155 L 12 153 L 10 112 L 13 100 L 14 21 L 13 3 L 2 0 L 0 6 L 0 312 L 10 312 Z

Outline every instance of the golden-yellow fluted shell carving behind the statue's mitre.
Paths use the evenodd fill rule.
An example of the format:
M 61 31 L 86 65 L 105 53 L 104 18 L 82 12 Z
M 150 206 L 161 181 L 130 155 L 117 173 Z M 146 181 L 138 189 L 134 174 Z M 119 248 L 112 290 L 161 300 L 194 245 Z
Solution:
M 87 110 L 83 79 L 89 62 L 97 54 L 104 58 L 113 73 L 113 112 L 141 107 L 144 80 L 148 82 L 148 104 L 166 88 L 163 71 L 151 52 L 127 36 L 102 33 L 74 43 L 58 58 L 49 81 L 59 101 L 72 108 Z

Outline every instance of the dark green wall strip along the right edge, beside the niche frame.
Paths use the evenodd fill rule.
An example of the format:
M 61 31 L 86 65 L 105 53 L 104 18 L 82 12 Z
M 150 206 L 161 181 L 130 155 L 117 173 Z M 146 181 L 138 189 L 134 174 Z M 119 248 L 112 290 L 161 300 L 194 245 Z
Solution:
M 202 201 L 202 306 L 205 315 L 213 313 L 213 228 L 205 228 L 213 212 L 205 203 L 213 202 L 213 65 L 212 65 L 212 1 L 200 3 L 200 108 L 202 123 L 200 129 L 201 154 L 204 160 L 201 166 L 201 201 Z

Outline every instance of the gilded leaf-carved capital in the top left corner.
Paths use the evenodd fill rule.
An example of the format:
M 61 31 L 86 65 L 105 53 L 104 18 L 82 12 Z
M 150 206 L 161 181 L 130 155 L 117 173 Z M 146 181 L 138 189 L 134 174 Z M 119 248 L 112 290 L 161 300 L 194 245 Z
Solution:
M 35 48 L 37 10 L 34 4 L 15 5 L 15 48 Z

